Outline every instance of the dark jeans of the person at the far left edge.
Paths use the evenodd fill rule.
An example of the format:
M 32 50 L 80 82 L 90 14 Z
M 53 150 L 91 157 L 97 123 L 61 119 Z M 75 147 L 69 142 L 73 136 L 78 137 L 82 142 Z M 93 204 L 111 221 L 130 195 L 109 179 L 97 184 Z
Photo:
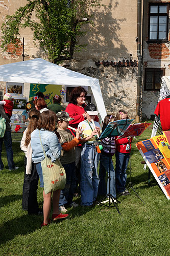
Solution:
M 13 160 L 12 138 L 10 131 L 5 131 L 4 137 L 0 138 L 0 169 L 4 168 L 4 164 L 2 161 L 3 141 L 7 152 L 8 167 L 9 169 L 14 169 L 15 163 Z

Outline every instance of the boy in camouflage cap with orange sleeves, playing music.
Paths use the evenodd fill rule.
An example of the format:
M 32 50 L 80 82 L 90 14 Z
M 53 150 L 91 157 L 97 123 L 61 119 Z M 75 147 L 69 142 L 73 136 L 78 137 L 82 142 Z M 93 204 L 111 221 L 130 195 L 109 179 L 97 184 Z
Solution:
M 74 137 L 71 132 L 67 129 L 69 125 L 69 121 L 73 120 L 73 118 L 69 117 L 67 112 L 61 111 L 57 114 L 57 132 L 60 135 L 60 143 L 62 146 L 60 161 L 63 165 L 66 172 L 66 185 L 65 188 L 61 190 L 59 206 L 61 212 L 66 212 L 66 206 L 77 207 L 78 204 L 73 202 L 72 199 L 74 197 L 74 177 L 75 177 L 75 146 L 80 144 L 80 142 L 84 142 L 89 140 L 96 134 L 96 132 L 90 133 L 86 139 L 80 138 L 82 133 L 81 129 L 77 129 L 76 137 Z

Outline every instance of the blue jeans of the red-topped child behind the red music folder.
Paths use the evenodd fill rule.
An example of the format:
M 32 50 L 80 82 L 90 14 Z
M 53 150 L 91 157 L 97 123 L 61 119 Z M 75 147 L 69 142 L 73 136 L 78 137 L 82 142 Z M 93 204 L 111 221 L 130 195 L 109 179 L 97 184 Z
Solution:
M 116 193 L 122 193 L 125 191 L 127 174 L 126 170 L 129 162 L 129 153 L 120 153 L 116 151 Z

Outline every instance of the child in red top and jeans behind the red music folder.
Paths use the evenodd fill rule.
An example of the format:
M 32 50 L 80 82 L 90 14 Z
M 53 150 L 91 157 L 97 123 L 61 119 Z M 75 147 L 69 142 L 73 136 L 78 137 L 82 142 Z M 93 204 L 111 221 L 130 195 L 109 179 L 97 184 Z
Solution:
M 116 114 L 117 120 L 120 119 L 128 119 L 128 114 L 124 110 L 119 110 Z M 122 194 L 123 196 L 129 195 L 129 191 L 126 190 L 126 180 L 127 174 L 126 170 L 129 163 L 130 157 L 130 149 L 132 138 L 130 138 L 130 142 L 128 138 L 118 139 L 118 136 L 115 136 L 115 143 L 116 143 L 116 193 Z

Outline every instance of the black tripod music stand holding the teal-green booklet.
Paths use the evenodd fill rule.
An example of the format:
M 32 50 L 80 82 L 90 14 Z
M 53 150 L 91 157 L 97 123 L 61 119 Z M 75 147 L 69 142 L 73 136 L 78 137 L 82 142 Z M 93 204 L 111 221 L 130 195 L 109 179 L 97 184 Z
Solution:
M 117 199 L 115 199 L 115 197 L 113 197 L 113 195 L 110 193 L 110 182 L 111 182 L 111 178 L 110 178 L 110 172 L 111 172 L 111 137 L 113 137 L 113 136 L 117 136 L 117 135 L 119 135 L 119 134 L 121 134 L 122 133 L 122 131 L 123 131 L 123 129 L 125 128 L 125 126 L 127 125 L 127 120 L 126 120 L 126 123 L 125 123 L 125 126 L 122 128 L 122 130 L 120 130 L 119 132 L 118 132 L 118 129 L 117 129 L 117 126 L 118 126 L 119 124 L 115 124 L 115 125 L 113 125 L 113 127 L 110 129 L 110 132 L 109 132 L 109 134 L 107 133 L 107 135 L 106 135 L 106 137 L 109 137 L 110 138 L 110 142 L 109 142 L 109 144 L 110 144 L 110 147 L 109 147 L 109 173 L 108 173 L 108 179 L 109 179 L 109 193 L 104 197 L 104 198 L 102 198 L 100 201 L 99 201 L 99 204 L 102 204 L 102 205 L 105 205 L 105 206 L 107 206 L 107 207 L 115 207 L 116 208 L 116 210 L 117 210 L 117 212 L 118 212 L 118 214 L 120 215 L 120 212 L 119 212 L 119 209 L 118 209 L 118 207 L 117 207 L 117 205 L 116 205 L 116 203 L 120 203 Z M 122 124 L 121 124 L 122 125 Z M 113 135 L 113 131 L 114 130 L 116 130 L 116 134 L 115 135 Z M 104 131 L 105 132 L 105 131 Z M 99 139 L 98 140 L 100 140 L 101 138 L 106 138 L 106 137 L 104 137 L 104 136 L 102 136 L 103 134 L 104 134 L 104 132 L 101 134 L 101 136 L 99 137 Z M 118 134 L 117 134 L 118 133 Z M 104 199 L 108 199 L 109 200 L 109 205 L 107 205 L 107 204 L 105 204 L 105 202 L 106 201 L 104 201 L 103 202 L 103 200 Z M 107 200 L 107 201 L 108 201 Z M 112 200 L 112 202 L 111 202 L 111 200 Z M 111 205 L 111 204 L 114 204 L 114 205 Z

